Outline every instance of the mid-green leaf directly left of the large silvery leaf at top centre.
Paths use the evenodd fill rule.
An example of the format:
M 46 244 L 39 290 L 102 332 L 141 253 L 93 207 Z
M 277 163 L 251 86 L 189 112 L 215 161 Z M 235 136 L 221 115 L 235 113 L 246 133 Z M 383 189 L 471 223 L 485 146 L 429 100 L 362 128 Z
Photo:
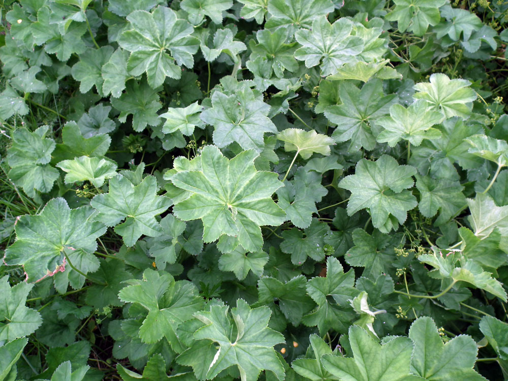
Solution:
M 256 33 L 258 44 L 251 40 L 249 43 L 250 59 L 255 61 L 260 57 L 268 62 L 271 70 L 278 78 L 283 78 L 284 71 L 294 72 L 298 69 L 298 62 L 295 59 L 296 43 L 287 43 L 289 40 L 289 29 L 280 27 L 273 31 L 262 29 Z M 271 77 L 271 71 L 269 71 Z

